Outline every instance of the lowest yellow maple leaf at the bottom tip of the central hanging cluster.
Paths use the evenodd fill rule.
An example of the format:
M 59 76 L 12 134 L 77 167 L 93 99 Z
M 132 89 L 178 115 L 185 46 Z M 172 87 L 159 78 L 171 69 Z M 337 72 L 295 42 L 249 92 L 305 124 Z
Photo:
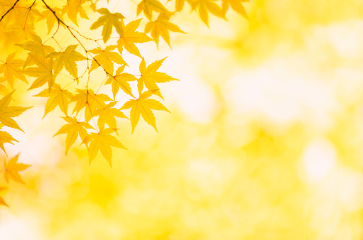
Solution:
M 98 151 L 101 151 L 102 156 L 106 158 L 107 162 L 112 168 L 112 146 L 116 148 L 124 148 L 124 145 L 117 140 L 116 137 L 112 136 L 114 129 L 99 129 L 99 133 L 91 133 L 86 136 L 82 143 L 90 143 L 88 147 L 88 158 L 90 164 L 92 160 L 97 156 Z

